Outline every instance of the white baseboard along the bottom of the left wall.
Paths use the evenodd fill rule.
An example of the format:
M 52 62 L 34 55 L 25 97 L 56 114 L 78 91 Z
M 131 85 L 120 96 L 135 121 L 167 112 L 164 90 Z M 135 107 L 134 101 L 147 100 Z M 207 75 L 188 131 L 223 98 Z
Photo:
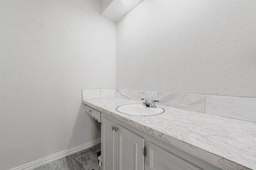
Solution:
M 66 156 L 69 156 L 69 155 L 74 154 L 76 152 L 79 152 L 81 150 L 93 147 L 94 145 L 97 145 L 99 143 L 100 143 L 100 138 L 96 139 L 95 141 L 86 143 L 84 145 L 80 145 L 78 147 L 74 147 L 72 149 L 68 149 L 68 150 L 65 150 L 63 152 L 59 152 L 57 154 L 53 154 L 52 156 L 48 156 L 46 158 L 42 158 L 42 159 L 36 160 L 34 162 L 30 162 L 28 164 L 24 164 L 22 166 L 19 166 L 19 167 L 16 167 L 14 169 L 10 169 L 10 170 L 32 170 L 34 168 L 38 168 L 40 166 L 43 166 L 43 165 L 48 164 L 50 162 L 53 162 L 55 160 L 64 158 Z

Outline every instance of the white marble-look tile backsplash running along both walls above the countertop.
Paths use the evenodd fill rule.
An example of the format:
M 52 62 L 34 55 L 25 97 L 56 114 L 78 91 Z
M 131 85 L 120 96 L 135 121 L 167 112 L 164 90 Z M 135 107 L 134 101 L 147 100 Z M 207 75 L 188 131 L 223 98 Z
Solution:
M 118 97 L 136 101 L 159 100 L 158 105 L 256 123 L 256 98 L 183 94 L 128 89 L 83 90 L 83 99 Z

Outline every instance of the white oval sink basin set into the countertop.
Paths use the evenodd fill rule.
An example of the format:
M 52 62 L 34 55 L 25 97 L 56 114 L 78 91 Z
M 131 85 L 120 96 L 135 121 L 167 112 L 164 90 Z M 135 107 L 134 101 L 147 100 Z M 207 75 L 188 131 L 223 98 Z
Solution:
M 159 106 L 152 108 L 143 106 L 143 104 L 126 104 L 116 107 L 116 111 L 127 115 L 148 116 L 164 113 L 165 109 Z

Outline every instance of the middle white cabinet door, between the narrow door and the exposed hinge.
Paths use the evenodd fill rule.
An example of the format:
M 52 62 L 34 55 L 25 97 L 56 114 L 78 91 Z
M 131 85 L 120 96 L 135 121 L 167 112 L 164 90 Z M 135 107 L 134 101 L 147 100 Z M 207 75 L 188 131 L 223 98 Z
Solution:
M 117 169 L 144 170 L 145 139 L 118 125 Z

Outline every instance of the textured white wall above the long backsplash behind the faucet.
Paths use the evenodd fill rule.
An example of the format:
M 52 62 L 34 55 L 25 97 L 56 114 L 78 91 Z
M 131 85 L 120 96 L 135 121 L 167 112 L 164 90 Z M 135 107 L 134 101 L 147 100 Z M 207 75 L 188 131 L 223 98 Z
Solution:
M 116 88 L 256 97 L 256 1 L 144 0 L 116 25 Z

